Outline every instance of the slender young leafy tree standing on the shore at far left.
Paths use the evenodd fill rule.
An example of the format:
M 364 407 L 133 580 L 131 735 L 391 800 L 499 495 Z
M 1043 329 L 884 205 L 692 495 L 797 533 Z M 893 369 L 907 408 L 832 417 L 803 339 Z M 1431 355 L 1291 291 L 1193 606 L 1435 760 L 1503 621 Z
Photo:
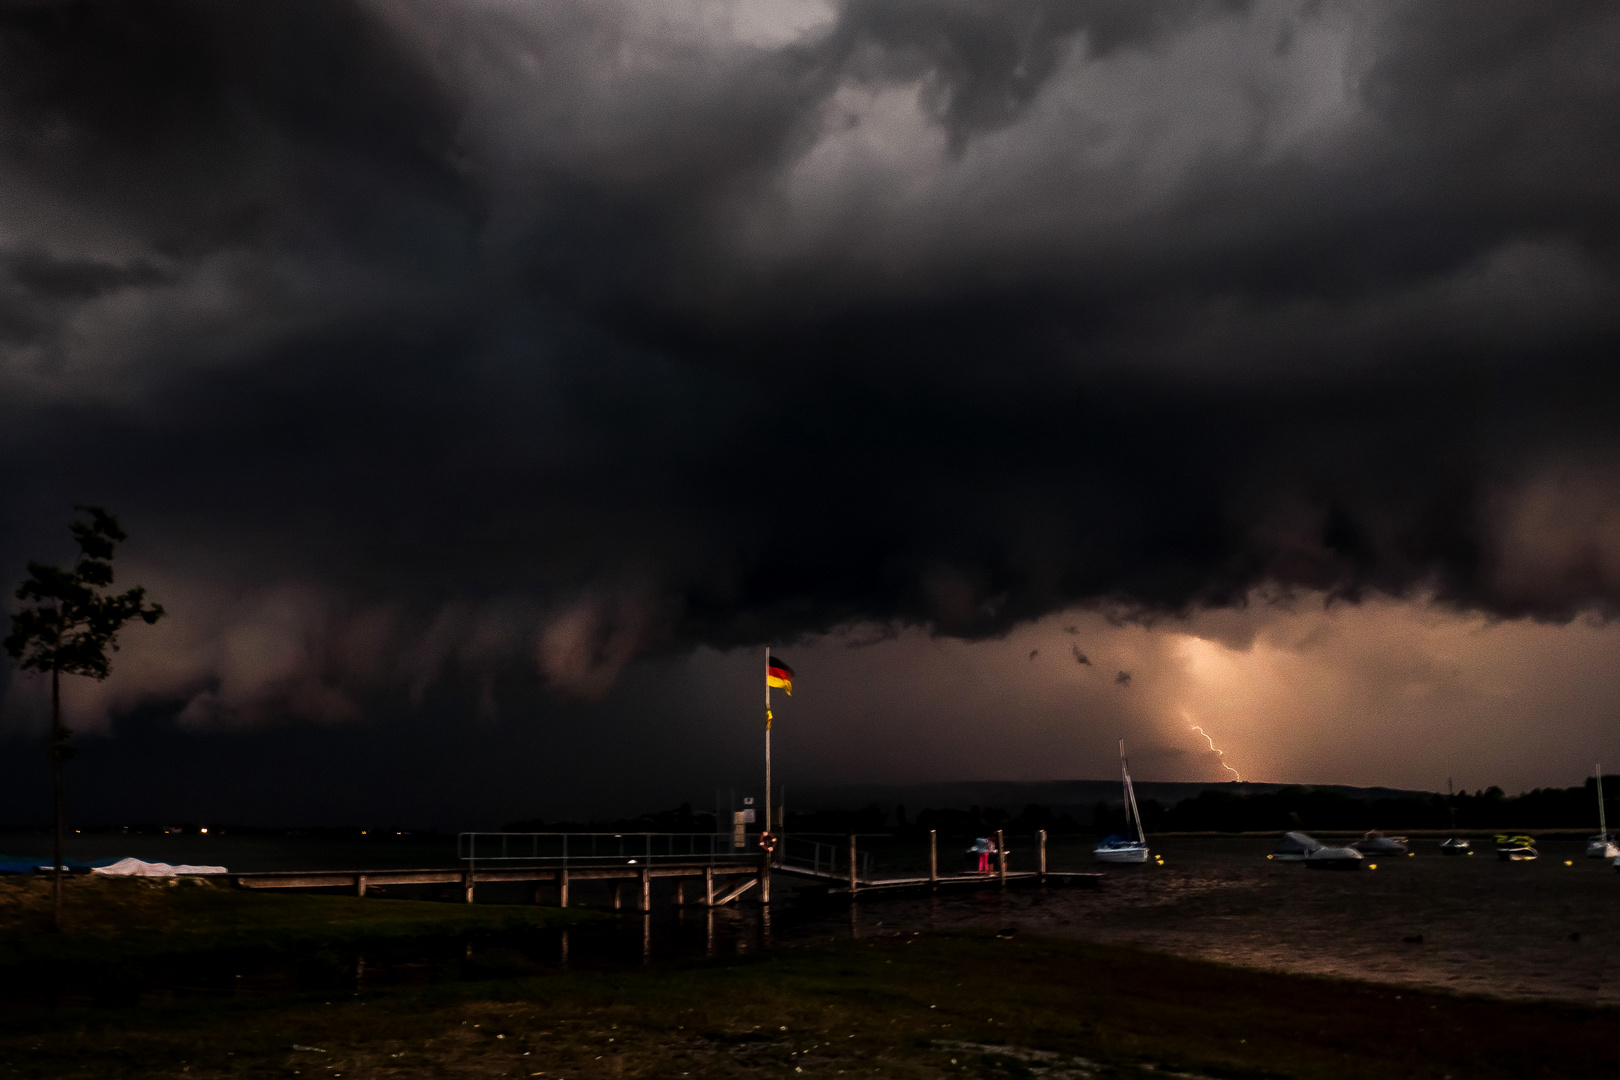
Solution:
M 107 593 L 112 586 L 113 551 L 125 533 L 118 518 L 100 507 L 75 507 L 87 520 L 70 528 L 79 544 L 79 560 L 71 570 L 28 563 L 28 580 L 16 589 L 23 607 L 11 615 L 5 649 L 23 670 L 50 672 L 50 787 L 57 814 L 57 876 L 52 887 L 52 926 L 62 929 L 62 766 L 73 756 L 73 733 L 62 724 L 62 677 L 112 674 L 109 653 L 118 651 L 118 631 L 131 619 L 147 625 L 164 617 L 164 609 L 146 602 L 146 589 Z

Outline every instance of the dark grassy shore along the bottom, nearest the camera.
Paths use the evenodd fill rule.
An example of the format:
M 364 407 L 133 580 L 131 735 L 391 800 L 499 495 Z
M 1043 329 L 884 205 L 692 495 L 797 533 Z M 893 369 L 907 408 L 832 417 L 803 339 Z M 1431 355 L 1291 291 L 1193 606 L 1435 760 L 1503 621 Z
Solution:
M 175 900 L 190 904 L 183 895 Z M 416 907 L 287 900 L 319 900 L 339 923 L 343 908 L 364 921 L 386 918 L 368 907 Z M 447 918 L 465 912 L 433 907 Z M 536 908 L 486 912 L 501 920 Z M 0 1077 L 1166 1074 L 1614 1077 L 1620 1012 L 1268 975 L 1074 941 L 901 934 L 692 968 L 0 1017 Z

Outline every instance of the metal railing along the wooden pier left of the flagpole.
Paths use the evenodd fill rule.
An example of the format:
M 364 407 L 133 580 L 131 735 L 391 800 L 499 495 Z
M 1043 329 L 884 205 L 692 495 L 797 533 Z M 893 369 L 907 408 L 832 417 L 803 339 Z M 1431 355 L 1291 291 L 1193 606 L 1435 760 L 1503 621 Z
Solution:
M 757 863 L 757 844 L 734 847 L 731 832 L 462 832 L 463 863 L 525 866 L 622 866 L 658 863 Z

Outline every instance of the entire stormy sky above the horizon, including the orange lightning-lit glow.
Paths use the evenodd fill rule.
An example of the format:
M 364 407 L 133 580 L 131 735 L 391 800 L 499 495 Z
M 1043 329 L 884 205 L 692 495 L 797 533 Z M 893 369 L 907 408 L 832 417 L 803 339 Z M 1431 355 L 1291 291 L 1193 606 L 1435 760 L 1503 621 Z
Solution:
M 706 798 L 766 643 L 791 784 L 1620 767 L 1617 53 L 1612 3 L 13 0 L 0 567 L 102 504 L 172 612 L 71 683 L 75 798 Z

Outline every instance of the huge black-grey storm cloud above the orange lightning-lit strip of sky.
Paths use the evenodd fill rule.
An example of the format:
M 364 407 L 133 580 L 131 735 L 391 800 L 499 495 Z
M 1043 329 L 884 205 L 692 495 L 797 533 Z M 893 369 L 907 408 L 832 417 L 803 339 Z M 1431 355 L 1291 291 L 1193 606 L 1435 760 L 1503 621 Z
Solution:
M 330 717 L 857 620 L 1620 597 L 1610 5 L 703 11 L 8 5 L 8 559 L 113 505 L 199 612 L 151 687 Z

